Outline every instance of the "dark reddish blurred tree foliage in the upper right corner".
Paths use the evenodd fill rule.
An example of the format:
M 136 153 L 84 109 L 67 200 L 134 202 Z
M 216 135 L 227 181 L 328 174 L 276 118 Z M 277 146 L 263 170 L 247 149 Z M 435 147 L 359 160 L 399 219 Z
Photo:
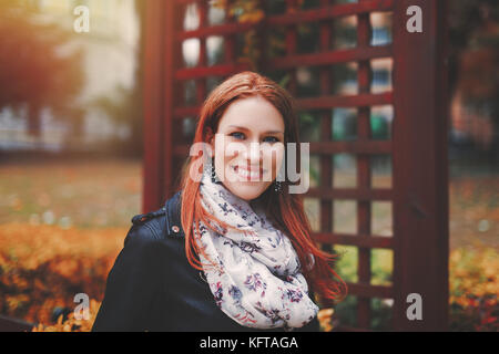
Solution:
M 497 0 L 449 1 L 449 94 L 459 91 L 466 106 L 491 118 L 492 158 L 499 158 L 498 64 Z

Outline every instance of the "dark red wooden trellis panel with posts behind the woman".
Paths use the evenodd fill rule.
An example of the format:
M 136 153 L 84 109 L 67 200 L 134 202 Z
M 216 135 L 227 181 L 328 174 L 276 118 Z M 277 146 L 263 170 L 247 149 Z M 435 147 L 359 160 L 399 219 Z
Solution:
M 305 0 L 306 2 L 306 0 Z M 350 282 L 349 295 L 356 298 L 356 321 L 337 330 L 369 330 L 371 300 L 393 300 L 389 330 L 445 330 L 448 304 L 448 195 L 447 195 L 447 96 L 445 77 L 445 1 L 358 0 L 315 1 L 315 8 L 302 9 L 299 1 L 286 0 L 285 11 L 268 14 L 256 24 L 237 23 L 226 17 L 223 23 L 208 23 L 207 1 L 149 0 L 146 11 L 145 59 L 145 157 L 144 211 L 160 207 L 173 191 L 182 163 L 189 154 L 192 129 L 200 106 L 213 82 L 251 70 L 237 60 L 237 35 L 256 29 L 266 45 L 265 31 L 282 29 L 285 54 L 259 59 L 264 74 L 285 72 L 287 88 L 297 97 L 301 111 L 318 115 L 319 139 L 310 143 L 310 154 L 318 155 L 320 185 L 306 197 L 319 200 L 317 242 L 355 247 L 358 258 L 357 281 Z M 346 2 L 346 3 L 345 3 Z M 196 4 L 197 24 L 185 29 L 187 9 Z M 231 1 L 226 1 L 227 6 Z M 264 1 L 263 3 L 268 3 Z M 191 8 L 189 8 L 191 6 Z M 422 10 L 422 32 L 406 31 L 407 8 Z M 373 45 L 371 14 L 390 13 L 393 42 Z M 227 11 L 225 11 L 227 13 Z M 335 38 L 333 21 L 346 17 L 356 20 L 356 45 L 330 49 Z M 318 49 L 298 53 L 297 27 L 318 23 Z M 224 39 L 224 54 L 208 63 L 206 45 L 211 37 Z M 198 55 L 187 66 L 182 58 L 183 45 L 195 40 Z M 262 52 L 265 53 L 265 48 Z M 373 92 L 371 62 L 390 59 L 393 84 L 385 92 Z M 356 63 L 357 93 L 333 93 L 332 65 Z M 298 67 L 318 70 L 319 92 L 301 97 L 297 93 Z M 195 86 L 189 97 L 186 87 Z M 191 90 L 192 91 L 192 90 Z M 371 110 L 391 106 L 394 122 L 389 139 L 374 139 Z M 355 140 L 333 138 L 332 111 L 356 110 Z M 186 133 L 187 132 L 187 133 Z M 353 188 L 334 187 L 332 156 L 352 154 L 356 158 L 356 181 Z M 374 188 L 371 157 L 391 158 L 391 186 Z M 356 202 L 356 233 L 334 232 L 334 201 Z M 373 235 L 373 204 L 391 205 L 391 237 Z M 394 256 L 390 285 L 371 284 L 374 249 L 391 250 Z M 422 299 L 422 320 L 409 320 L 407 295 Z

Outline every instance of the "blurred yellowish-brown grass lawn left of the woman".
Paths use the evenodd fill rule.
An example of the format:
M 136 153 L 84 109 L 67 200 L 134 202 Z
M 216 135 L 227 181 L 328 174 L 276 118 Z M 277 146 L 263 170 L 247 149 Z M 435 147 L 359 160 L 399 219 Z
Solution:
M 140 160 L 0 166 L 0 223 L 130 226 L 141 210 Z

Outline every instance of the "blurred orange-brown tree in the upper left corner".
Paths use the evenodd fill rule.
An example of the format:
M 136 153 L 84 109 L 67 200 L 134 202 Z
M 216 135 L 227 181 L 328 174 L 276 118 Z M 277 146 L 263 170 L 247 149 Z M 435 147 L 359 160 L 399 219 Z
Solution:
M 32 1 L 0 0 L 0 110 L 28 108 L 29 133 L 40 135 L 40 112 L 81 126 L 75 104 L 83 85 L 82 53 L 70 35 L 44 23 Z

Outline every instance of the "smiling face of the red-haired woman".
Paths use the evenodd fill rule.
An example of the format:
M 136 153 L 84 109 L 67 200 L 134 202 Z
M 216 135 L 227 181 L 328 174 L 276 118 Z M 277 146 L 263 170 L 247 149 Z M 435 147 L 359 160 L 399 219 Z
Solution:
M 252 200 L 276 178 L 284 156 L 284 119 L 261 96 L 232 103 L 212 140 L 215 171 L 225 188 Z

